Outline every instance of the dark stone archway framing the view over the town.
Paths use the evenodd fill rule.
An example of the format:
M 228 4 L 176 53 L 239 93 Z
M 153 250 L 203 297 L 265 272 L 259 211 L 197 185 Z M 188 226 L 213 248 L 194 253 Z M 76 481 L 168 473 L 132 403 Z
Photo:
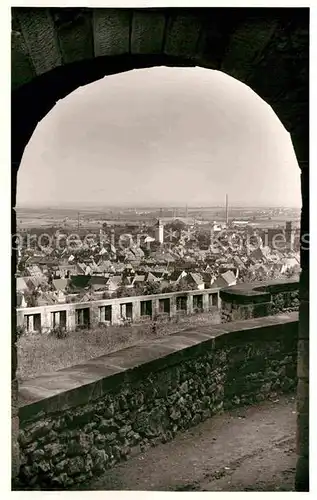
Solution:
M 12 207 L 23 151 L 37 123 L 79 86 L 151 66 L 202 66 L 250 86 L 291 134 L 301 168 L 301 234 L 309 231 L 308 9 L 45 9 L 12 11 Z M 12 210 L 12 233 L 15 233 Z M 12 255 L 12 380 L 16 392 L 15 266 Z M 298 466 L 308 478 L 309 252 L 301 251 Z M 16 403 L 13 417 L 17 423 Z M 17 448 L 14 447 L 14 450 Z M 14 472 L 13 472 L 14 473 Z

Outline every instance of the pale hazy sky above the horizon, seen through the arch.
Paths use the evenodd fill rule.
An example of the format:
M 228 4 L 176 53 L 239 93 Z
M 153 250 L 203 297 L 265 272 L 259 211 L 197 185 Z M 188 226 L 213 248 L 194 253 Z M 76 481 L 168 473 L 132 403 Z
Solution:
M 250 88 L 218 71 L 108 76 L 59 101 L 36 128 L 18 206 L 300 206 L 290 136 Z

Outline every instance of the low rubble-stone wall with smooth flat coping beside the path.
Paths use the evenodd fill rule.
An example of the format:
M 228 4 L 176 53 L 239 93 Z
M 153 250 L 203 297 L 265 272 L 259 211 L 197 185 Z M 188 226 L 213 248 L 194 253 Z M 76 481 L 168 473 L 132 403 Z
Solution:
M 20 387 L 20 489 L 89 484 L 212 415 L 295 390 L 298 315 L 188 330 Z

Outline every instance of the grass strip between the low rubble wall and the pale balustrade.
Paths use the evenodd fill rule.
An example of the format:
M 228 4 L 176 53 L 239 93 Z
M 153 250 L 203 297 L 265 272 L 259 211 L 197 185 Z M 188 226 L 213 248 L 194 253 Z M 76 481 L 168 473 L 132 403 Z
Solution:
M 201 313 L 193 316 L 173 318 L 157 323 L 134 323 L 129 326 L 96 327 L 90 330 L 75 330 L 65 338 L 51 334 L 25 334 L 17 342 L 19 380 L 54 372 L 89 359 L 140 344 L 148 339 L 164 337 L 191 326 L 199 327 L 220 323 L 219 315 Z

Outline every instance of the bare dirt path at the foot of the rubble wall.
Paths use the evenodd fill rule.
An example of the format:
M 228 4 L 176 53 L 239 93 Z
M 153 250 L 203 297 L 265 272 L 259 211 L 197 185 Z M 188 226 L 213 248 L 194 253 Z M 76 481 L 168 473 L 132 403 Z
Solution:
M 130 458 L 86 488 L 292 491 L 295 425 L 292 396 L 234 410 Z

